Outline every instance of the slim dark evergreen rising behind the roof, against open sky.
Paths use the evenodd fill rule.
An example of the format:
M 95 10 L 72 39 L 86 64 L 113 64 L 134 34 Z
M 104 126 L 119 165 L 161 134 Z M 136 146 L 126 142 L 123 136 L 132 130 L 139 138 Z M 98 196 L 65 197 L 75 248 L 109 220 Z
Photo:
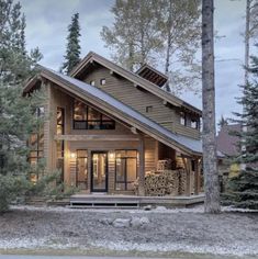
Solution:
M 61 71 L 69 74 L 72 68 L 80 61 L 80 25 L 79 13 L 71 18 L 71 23 L 68 26 L 67 47 L 65 61 L 61 66 Z

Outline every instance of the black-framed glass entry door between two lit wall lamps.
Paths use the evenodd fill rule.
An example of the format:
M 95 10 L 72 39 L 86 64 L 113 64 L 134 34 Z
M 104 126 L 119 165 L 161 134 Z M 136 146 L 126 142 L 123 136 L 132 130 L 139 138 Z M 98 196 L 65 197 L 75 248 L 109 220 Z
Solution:
M 91 153 L 91 192 L 108 192 L 108 153 Z

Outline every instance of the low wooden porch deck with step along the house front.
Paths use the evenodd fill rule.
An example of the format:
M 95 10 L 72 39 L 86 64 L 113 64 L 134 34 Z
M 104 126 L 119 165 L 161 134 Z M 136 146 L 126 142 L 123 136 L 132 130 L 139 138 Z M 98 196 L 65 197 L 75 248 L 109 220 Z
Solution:
M 154 206 L 192 206 L 204 202 L 204 194 L 190 196 L 137 196 L 124 194 L 75 194 L 70 196 L 71 207 L 142 207 Z

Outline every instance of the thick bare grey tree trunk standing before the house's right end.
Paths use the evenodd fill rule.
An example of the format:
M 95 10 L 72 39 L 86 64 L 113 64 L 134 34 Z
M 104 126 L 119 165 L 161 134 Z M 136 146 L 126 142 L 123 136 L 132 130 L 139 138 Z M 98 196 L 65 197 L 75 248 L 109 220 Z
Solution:
M 203 171 L 206 213 L 221 211 L 215 145 L 213 11 L 213 0 L 202 0 Z

